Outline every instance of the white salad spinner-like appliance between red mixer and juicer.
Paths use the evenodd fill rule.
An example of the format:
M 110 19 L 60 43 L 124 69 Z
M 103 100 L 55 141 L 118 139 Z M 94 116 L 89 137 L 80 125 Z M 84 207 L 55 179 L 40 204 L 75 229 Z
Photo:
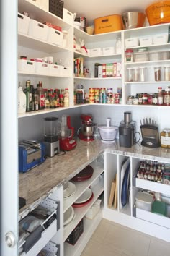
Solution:
M 110 122 L 111 122 L 110 118 L 107 118 L 106 121 L 107 121 L 106 127 L 105 126 L 98 127 L 102 142 L 111 142 L 111 143 L 115 142 L 118 127 L 110 125 Z

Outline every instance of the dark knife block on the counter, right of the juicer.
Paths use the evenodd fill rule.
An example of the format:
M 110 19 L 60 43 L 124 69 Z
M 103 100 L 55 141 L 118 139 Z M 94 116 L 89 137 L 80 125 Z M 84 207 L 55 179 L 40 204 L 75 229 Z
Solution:
M 148 148 L 158 148 L 160 146 L 158 127 L 143 124 L 140 126 L 140 130 L 143 138 L 141 145 Z

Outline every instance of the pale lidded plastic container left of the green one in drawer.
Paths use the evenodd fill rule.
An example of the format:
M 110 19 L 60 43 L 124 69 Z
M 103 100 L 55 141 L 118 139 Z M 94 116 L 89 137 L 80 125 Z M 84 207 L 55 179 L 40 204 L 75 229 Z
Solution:
M 143 210 L 147 210 L 148 212 L 151 212 L 153 202 L 153 196 L 151 194 L 147 192 L 138 192 L 138 194 L 135 197 L 135 200 L 136 208 L 140 208 Z

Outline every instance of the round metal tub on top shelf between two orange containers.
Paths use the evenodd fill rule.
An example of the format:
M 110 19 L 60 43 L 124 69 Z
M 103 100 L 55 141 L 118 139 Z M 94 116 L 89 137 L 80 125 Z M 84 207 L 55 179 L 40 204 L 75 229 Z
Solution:
M 143 27 L 145 20 L 146 14 L 143 12 L 125 12 L 122 14 L 122 27 L 124 30 Z

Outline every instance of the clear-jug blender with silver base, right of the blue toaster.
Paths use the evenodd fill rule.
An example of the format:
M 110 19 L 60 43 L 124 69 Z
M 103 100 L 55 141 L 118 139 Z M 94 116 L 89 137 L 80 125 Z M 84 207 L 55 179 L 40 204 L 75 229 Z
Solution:
M 44 119 L 44 144 L 46 155 L 50 158 L 60 153 L 57 117 L 50 116 Z

